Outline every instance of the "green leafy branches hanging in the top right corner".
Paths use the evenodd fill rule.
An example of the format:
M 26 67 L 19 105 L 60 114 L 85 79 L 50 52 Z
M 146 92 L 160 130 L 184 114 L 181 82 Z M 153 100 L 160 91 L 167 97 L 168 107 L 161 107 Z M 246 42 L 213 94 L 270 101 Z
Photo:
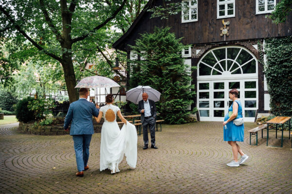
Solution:
M 280 0 L 277 2 L 272 15 L 268 16 L 273 19 L 273 23 L 284 23 L 287 20 L 288 14 L 292 11 L 292 0 Z

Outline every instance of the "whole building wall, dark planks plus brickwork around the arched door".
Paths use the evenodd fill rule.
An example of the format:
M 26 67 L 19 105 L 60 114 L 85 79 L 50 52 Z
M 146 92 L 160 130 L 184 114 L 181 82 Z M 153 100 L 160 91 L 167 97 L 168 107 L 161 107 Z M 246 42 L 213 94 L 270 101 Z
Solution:
M 276 0 L 276 2 L 278 1 Z M 285 23 L 276 25 L 266 17 L 269 14 L 256 14 L 256 0 L 235 0 L 235 16 L 224 18 L 225 21 L 230 22 L 228 25 L 229 36 L 226 36 L 224 40 L 224 37 L 220 36 L 223 18 L 217 18 L 217 3 L 217 0 L 198 0 L 198 21 L 182 23 L 181 13 L 169 16 L 169 19 L 150 19 L 151 13 L 146 10 L 162 4 L 162 0 L 150 0 L 129 30 L 113 44 L 113 47 L 127 51 L 129 58 L 130 48 L 128 45 L 134 45 L 140 34 L 144 32 L 151 33 L 155 27 L 168 26 L 171 27 L 170 32 L 174 32 L 177 38 L 183 37 L 182 43 L 184 45 L 192 45 L 192 54 L 188 59 L 191 59 L 192 66 L 198 66 L 198 68 L 203 55 L 211 49 L 222 46 L 245 48 L 253 53 L 257 59 L 256 90 L 258 102 L 255 112 L 256 114 L 267 113 L 268 111 L 264 107 L 266 103 L 269 104 L 269 101 L 264 100 L 265 94 L 268 93 L 264 86 L 264 65 L 258 60 L 259 51 L 256 47 L 258 43 L 263 44 L 265 38 L 291 36 L 292 14 L 288 16 Z M 192 84 L 196 88 L 198 87 L 197 74 L 197 71 L 192 72 Z M 127 79 L 129 79 L 128 74 Z M 197 96 L 192 107 L 199 107 L 197 99 L 200 100 Z M 200 115 L 197 115 L 198 119 L 200 119 Z

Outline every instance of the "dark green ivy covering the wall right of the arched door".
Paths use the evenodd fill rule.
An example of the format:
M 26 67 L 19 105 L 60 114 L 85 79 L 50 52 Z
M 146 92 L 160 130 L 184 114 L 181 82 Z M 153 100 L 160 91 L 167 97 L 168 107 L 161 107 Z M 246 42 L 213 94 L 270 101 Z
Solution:
M 271 112 L 276 116 L 292 116 L 292 36 L 270 38 L 265 48 L 265 76 L 271 95 Z

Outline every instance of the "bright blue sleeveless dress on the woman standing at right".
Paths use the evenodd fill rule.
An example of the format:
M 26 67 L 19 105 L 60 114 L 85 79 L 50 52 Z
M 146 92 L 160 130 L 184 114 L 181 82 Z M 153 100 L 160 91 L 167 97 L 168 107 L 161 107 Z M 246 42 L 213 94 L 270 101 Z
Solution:
M 234 102 L 237 102 L 238 104 L 238 114 L 237 118 L 242 118 L 242 105 L 239 100 L 235 100 Z M 233 103 L 234 103 L 233 102 Z M 233 105 L 232 103 L 232 105 Z M 228 111 L 232 111 L 232 105 L 229 107 Z M 224 121 L 227 121 L 229 119 L 228 113 L 224 117 Z M 227 124 L 227 129 L 223 128 L 223 134 L 224 134 L 224 141 L 238 141 L 238 142 L 243 142 L 244 138 L 244 124 L 240 126 L 236 126 L 233 124 L 233 121 L 228 122 Z

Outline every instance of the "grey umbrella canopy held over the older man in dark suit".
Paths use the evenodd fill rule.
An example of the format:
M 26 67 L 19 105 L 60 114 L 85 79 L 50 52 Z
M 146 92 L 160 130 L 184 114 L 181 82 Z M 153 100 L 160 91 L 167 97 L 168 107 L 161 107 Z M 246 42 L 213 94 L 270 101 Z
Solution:
M 142 94 L 144 92 L 148 94 L 149 99 L 153 100 L 154 102 L 159 101 L 160 92 L 151 88 L 150 86 L 142 86 L 142 85 L 132 88 L 128 92 L 126 92 L 126 99 L 135 104 L 138 104 L 138 102 L 142 100 Z

